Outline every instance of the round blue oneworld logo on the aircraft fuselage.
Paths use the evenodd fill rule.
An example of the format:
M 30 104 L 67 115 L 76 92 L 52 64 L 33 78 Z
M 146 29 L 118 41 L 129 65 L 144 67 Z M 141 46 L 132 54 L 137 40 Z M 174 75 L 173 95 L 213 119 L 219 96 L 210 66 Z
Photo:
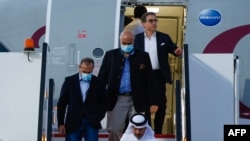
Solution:
M 205 9 L 200 12 L 199 20 L 203 25 L 214 26 L 221 21 L 221 14 L 214 9 Z

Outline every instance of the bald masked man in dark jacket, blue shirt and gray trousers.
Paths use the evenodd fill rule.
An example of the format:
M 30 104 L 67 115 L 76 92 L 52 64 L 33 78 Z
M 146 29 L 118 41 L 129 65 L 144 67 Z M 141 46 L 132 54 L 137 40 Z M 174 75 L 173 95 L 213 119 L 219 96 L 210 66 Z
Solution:
M 151 97 L 152 66 L 149 54 L 134 49 L 132 31 L 121 32 L 120 43 L 120 48 L 106 52 L 98 74 L 107 85 L 109 141 L 120 141 L 125 120 L 133 113 L 145 114 L 149 109 L 151 112 L 157 110 L 157 99 Z

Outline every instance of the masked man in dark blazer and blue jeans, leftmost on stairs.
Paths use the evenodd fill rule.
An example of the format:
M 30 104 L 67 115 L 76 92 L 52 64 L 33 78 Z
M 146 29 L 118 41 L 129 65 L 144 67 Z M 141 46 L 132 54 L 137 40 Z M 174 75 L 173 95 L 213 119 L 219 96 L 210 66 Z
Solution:
M 58 131 L 66 141 L 98 141 L 106 113 L 105 84 L 92 73 L 94 60 L 84 58 L 79 73 L 65 78 L 57 103 Z M 66 116 L 65 116 L 66 114 Z

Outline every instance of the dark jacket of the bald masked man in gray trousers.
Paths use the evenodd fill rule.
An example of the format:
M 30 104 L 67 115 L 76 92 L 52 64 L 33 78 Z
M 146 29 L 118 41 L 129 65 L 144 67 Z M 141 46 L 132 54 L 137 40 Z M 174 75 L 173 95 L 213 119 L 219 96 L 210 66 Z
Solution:
M 119 94 L 125 58 L 120 48 L 106 52 L 98 77 L 107 84 L 108 111 L 112 111 Z M 133 104 L 136 112 L 146 112 L 149 105 L 157 103 L 152 90 L 152 66 L 149 54 L 134 50 L 129 56 Z

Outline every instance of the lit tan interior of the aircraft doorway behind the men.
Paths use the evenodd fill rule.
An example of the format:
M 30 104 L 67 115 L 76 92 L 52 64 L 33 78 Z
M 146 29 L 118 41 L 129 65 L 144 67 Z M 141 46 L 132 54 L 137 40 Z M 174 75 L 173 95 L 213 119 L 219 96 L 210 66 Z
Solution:
M 126 6 L 124 15 L 133 18 L 134 6 Z M 167 33 L 178 47 L 183 46 L 185 33 L 186 7 L 183 5 L 146 6 L 148 11 L 155 12 L 159 20 L 157 30 Z M 182 62 L 181 58 L 169 56 L 169 63 L 172 72 L 173 84 L 167 84 L 167 109 L 163 125 L 163 134 L 175 134 L 175 81 L 181 80 Z M 154 115 L 151 115 L 154 117 Z M 154 125 L 152 125 L 154 127 Z

